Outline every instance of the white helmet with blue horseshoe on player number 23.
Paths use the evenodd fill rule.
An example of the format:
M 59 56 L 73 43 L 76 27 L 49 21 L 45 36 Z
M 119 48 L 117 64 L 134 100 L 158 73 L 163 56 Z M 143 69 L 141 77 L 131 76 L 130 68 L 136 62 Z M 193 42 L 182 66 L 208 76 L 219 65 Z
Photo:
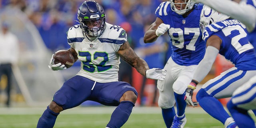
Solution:
M 200 29 L 203 32 L 205 26 L 228 19 L 230 16 L 219 13 L 209 6 L 204 5 L 200 14 Z

